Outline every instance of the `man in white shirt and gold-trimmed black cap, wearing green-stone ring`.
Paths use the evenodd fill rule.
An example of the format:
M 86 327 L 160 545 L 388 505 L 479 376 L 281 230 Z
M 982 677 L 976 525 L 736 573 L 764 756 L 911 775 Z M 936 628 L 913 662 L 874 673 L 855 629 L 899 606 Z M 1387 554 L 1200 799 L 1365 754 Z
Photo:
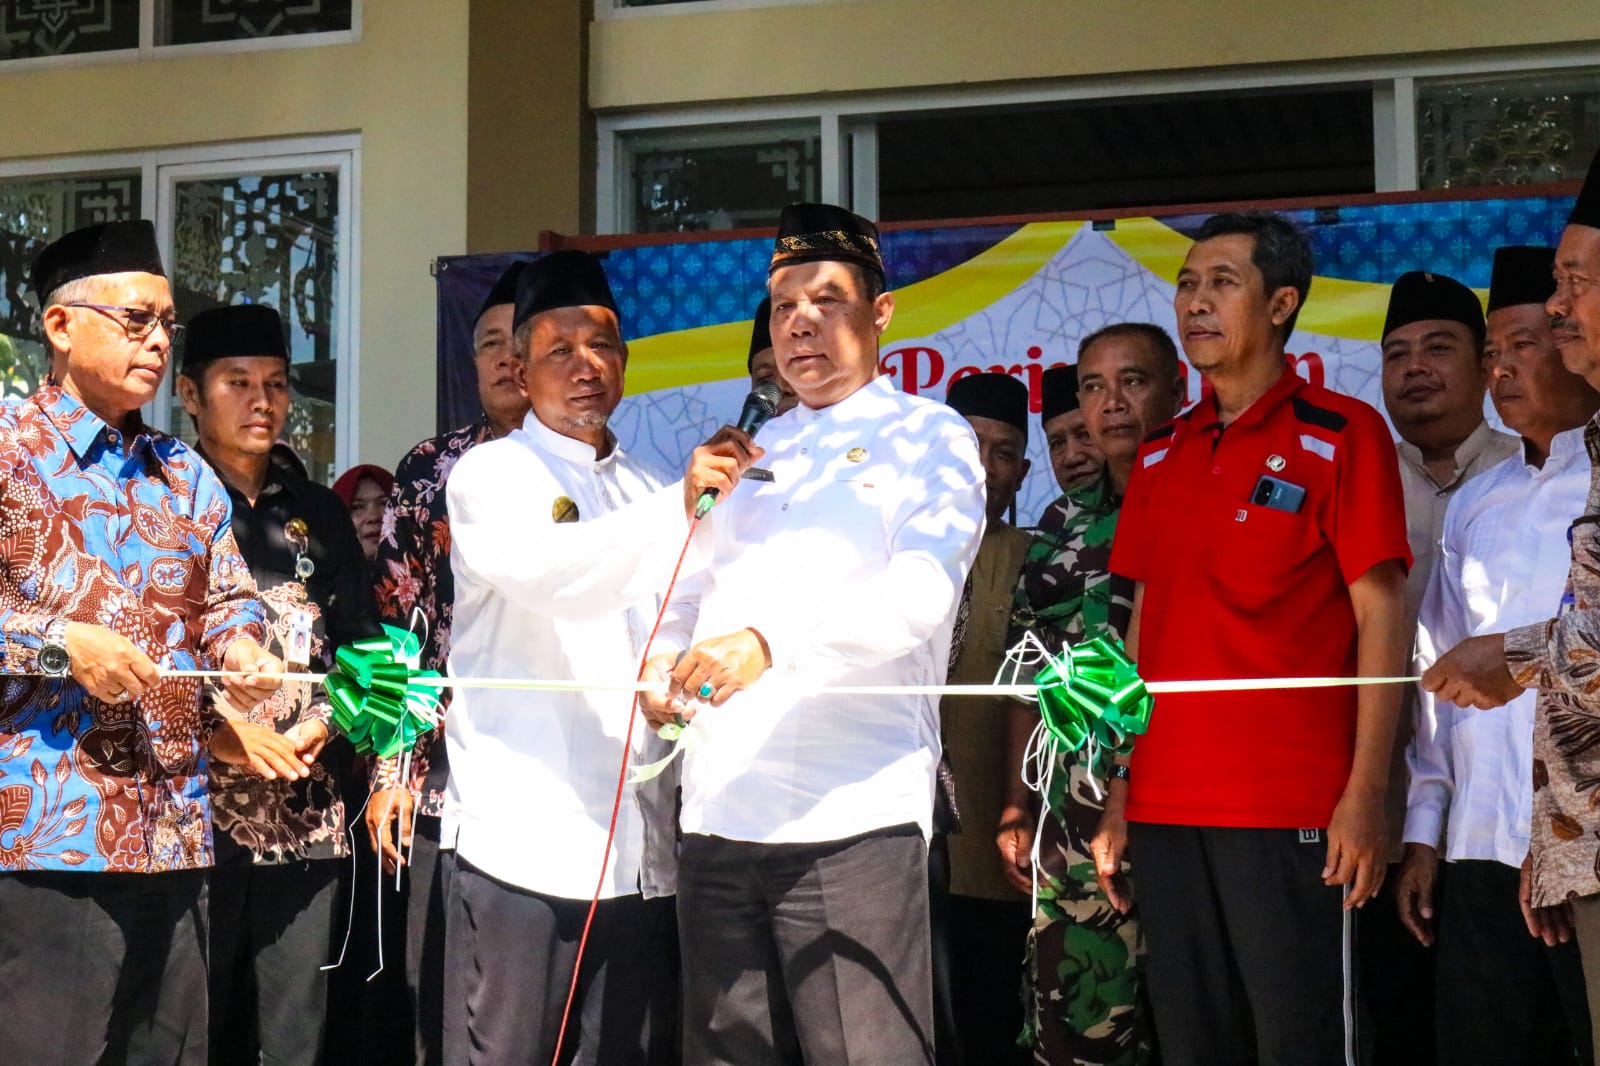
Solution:
M 938 696 L 984 523 L 966 421 L 878 376 L 894 312 L 877 227 L 784 208 L 770 482 L 710 514 L 707 568 L 651 663 L 698 733 L 683 763 L 678 941 L 688 1066 L 933 1063 L 926 839 Z M 682 653 L 682 656 L 678 655 Z

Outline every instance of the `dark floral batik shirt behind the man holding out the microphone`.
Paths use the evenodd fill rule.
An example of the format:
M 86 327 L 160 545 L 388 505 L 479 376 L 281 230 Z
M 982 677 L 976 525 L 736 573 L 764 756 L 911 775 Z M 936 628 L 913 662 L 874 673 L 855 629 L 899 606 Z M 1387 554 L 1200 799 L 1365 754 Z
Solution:
M 469 450 L 493 440 L 488 418 L 462 426 L 411 448 L 395 467 L 395 487 L 384 509 L 378 543 L 378 613 L 382 621 L 411 629 L 414 616 L 424 619 L 422 669 L 445 672 L 450 658 L 450 626 L 456 586 L 450 573 L 450 512 L 445 483 L 456 461 Z M 450 693 L 440 693 L 440 709 Z M 395 784 L 400 760 L 378 763 L 374 787 Z M 418 794 L 416 813 L 437 818 L 445 810 L 450 762 L 445 757 L 445 727 L 424 733 L 411 752 L 410 787 Z

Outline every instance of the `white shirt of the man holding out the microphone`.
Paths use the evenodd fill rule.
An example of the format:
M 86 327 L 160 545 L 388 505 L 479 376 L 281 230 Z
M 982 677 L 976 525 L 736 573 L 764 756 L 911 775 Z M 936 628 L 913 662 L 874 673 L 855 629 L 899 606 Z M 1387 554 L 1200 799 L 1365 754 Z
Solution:
M 595 459 L 592 447 L 531 413 L 522 429 L 464 455 L 446 490 L 450 674 L 634 680 L 688 535 L 683 488 L 662 480 L 621 448 Z M 568 503 L 576 520 L 558 522 Z M 458 688 L 445 719 L 458 853 L 507 884 L 587 900 L 630 706 L 618 691 Z M 634 746 L 643 759 L 666 752 L 643 717 Z M 658 783 L 624 797 L 602 896 L 674 888 L 674 781 Z

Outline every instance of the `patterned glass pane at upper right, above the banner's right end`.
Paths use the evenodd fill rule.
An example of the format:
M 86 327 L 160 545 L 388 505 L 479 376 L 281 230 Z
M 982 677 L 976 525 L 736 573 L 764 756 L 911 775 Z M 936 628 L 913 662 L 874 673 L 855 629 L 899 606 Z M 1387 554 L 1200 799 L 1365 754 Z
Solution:
M 1595 147 L 1600 80 L 1594 70 L 1418 85 L 1416 178 L 1422 189 L 1582 178 Z

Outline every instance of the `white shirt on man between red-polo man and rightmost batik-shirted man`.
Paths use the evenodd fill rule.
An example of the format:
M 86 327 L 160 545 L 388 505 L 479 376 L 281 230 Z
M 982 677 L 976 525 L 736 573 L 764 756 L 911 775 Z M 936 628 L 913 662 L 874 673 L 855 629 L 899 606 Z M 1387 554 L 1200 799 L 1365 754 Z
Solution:
M 1557 434 L 1542 467 L 1520 456 L 1462 485 L 1445 512 L 1438 567 L 1418 623 L 1418 669 L 1466 637 L 1555 615 L 1571 563 L 1566 527 L 1584 512 L 1589 455 L 1582 429 Z M 1533 709 L 1525 691 L 1477 711 L 1421 691 L 1406 752 L 1411 787 L 1405 840 L 1445 858 L 1520 866 L 1533 812 Z

